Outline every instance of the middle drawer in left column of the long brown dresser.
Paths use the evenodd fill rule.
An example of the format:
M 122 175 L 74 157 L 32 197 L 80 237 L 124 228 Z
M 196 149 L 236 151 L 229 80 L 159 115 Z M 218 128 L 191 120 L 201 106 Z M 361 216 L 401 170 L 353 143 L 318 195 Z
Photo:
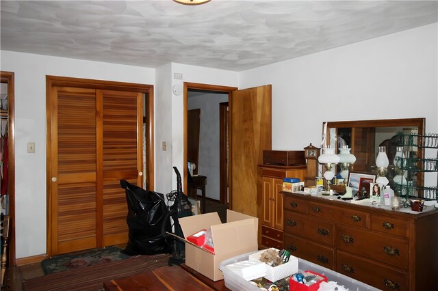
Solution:
M 330 246 L 335 243 L 335 223 L 292 211 L 285 211 L 284 214 L 285 233 L 302 236 L 316 243 Z

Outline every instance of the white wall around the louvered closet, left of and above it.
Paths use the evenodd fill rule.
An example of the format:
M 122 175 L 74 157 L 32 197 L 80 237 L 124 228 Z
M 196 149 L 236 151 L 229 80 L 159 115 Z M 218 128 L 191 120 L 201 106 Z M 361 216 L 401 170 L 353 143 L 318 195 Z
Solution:
M 155 70 L 10 51 L 1 51 L 0 65 L 15 78 L 14 243 L 25 258 L 46 253 L 46 75 L 153 85 Z

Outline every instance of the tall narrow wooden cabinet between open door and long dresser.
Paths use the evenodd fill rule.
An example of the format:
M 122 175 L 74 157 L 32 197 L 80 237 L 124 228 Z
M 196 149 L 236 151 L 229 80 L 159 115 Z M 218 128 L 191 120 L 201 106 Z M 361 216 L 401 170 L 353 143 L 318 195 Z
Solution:
M 304 181 L 306 166 L 259 165 L 259 247 L 283 249 L 283 178 Z

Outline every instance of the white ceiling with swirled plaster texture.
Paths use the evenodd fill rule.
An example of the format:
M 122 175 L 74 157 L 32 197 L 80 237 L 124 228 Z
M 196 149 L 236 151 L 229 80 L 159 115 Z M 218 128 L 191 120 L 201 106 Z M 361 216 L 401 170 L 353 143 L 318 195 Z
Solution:
M 1 49 L 242 71 L 438 21 L 437 1 L 1 1 Z

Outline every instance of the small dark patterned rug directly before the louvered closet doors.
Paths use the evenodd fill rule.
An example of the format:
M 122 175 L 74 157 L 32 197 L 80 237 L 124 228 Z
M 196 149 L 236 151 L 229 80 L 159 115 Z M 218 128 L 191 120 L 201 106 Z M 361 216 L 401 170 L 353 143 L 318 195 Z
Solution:
M 41 262 L 44 275 L 68 271 L 73 268 L 83 268 L 95 264 L 116 262 L 130 258 L 125 253 L 120 253 L 118 247 L 105 247 L 103 249 L 91 249 L 86 252 L 69 253 L 68 255 L 56 255 Z

